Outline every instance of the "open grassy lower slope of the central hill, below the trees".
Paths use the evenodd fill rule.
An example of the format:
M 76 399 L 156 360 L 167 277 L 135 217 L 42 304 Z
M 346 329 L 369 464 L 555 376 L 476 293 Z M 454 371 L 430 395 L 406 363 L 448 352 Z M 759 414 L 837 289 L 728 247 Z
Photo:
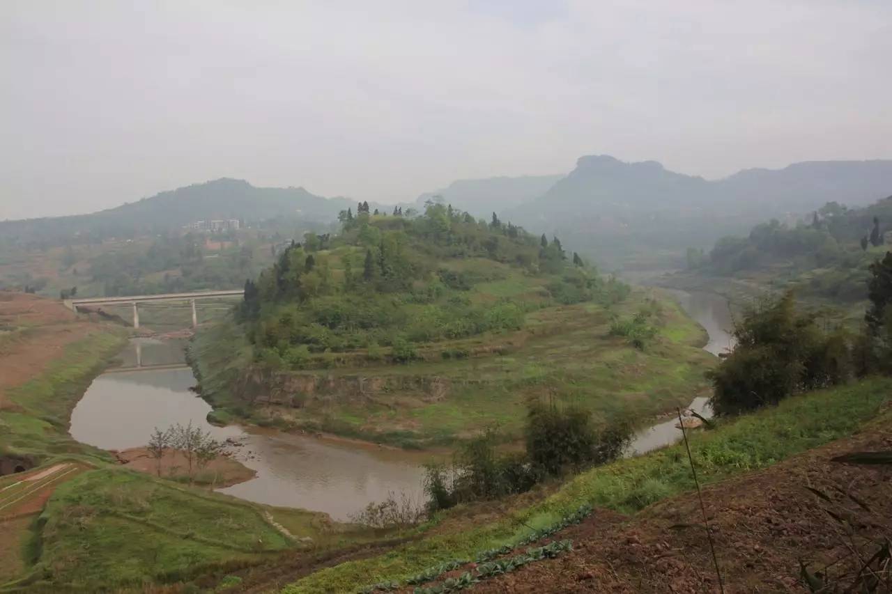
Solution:
M 478 285 L 475 299 L 534 293 L 534 281 L 517 275 Z M 343 385 L 363 378 L 386 387 L 371 397 L 310 398 L 302 408 L 269 407 L 264 413 L 278 417 L 285 427 L 310 426 L 402 445 L 449 443 L 491 424 L 516 436 L 530 396 L 553 395 L 606 420 L 621 414 L 647 420 L 687 405 L 703 392 L 703 372 L 715 361 L 698 348 L 706 341 L 702 328 L 674 301 L 660 301 L 660 334 L 646 351 L 608 335 L 611 316 L 631 316 L 651 307 L 649 294 L 636 291 L 610 309 L 594 303 L 539 309 L 527 316 L 519 332 L 435 345 L 439 350 L 481 351 L 469 359 L 444 360 L 435 354 L 408 365 L 291 372 L 333 378 Z M 237 406 L 227 377 L 250 364 L 244 340 L 222 324 L 199 334 L 193 353 L 205 395 L 217 406 Z

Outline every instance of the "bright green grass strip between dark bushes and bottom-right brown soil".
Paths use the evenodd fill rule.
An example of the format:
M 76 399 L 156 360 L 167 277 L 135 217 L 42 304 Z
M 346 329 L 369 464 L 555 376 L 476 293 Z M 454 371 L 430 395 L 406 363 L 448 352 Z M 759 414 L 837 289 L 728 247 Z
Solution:
M 888 401 L 890 379 L 869 379 L 783 401 L 776 408 L 740 417 L 710 432 L 691 434 L 691 450 L 702 483 L 713 483 L 854 433 Z M 888 412 L 884 413 L 887 417 Z M 576 476 L 541 503 L 501 522 L 447 533 L 394 549 L 381 557 L 337 565 L 285 588 L 288 594 L 347 592 L 382 580 L 399 580 L 453 558 L 516 542 L 583 503 L 627 513 L 659 499 L 690 491 L 683 446 L 593 468 Z M 523 522 L 524 524 L 521 524 Z

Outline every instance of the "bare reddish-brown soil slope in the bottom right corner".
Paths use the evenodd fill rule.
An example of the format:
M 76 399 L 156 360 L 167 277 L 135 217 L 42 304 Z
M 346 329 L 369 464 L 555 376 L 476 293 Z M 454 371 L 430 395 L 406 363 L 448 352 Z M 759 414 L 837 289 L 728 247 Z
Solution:
M 704 490 L 726 592 L 805 592 L 800 560 L 821 570 L 843 557 L 830 570 L 837 573 L 855 566 L 847 530 L 869 550 L 867 557 L 878 548 L 867 543 L 892 534 L 889 471 L 830 462 L 855 450 L 892 450 L 892 429 L 875 426 Z M 846 525 L 825 509 L 847 518 Z M 604 522 L 596 513 L 555 536 L 573 539 L 574 551 L 481 582 L 474 591 L 715 592 L 701 524 L 696 495 L 658 503 L 624 523 Z

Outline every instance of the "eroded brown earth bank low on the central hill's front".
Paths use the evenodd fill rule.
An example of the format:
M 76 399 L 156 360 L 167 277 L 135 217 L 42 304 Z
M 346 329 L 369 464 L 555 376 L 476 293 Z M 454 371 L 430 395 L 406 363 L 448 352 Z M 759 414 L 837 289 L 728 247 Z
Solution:
M 435 375 L 326 375 L 274 372 L 258 367 L 242 376 L 235 393 L 251 404 L 302 408 L 312 402 L 377 400 L 395 393 L 435 402 L 445 398 L 454 384 L 453 380 Z

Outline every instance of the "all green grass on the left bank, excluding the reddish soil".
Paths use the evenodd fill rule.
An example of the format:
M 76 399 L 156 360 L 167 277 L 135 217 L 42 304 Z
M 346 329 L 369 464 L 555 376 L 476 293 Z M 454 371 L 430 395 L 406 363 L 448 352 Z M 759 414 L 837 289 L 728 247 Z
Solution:
M 27 340 L 27 335 L 19 337 Z M 123 334 L 95 332 L 65 347 L 37 377 L 9 392 L 16 409 L 0 410 L 0 451 L 53 464 L 76 458 L 95 470 L 58 483 L 37 522 L 3 524 L 21 532 L 4 558 L 5 579 L 24 573 L 23 582 L 49 590 L 78 586 L 96 590 L 111 584 L 172 582 L 232 564 L 257 562 L 291 546 L 263 516 L 265 507 L 190 489 L 108 464 L 103 450 L 68 434 L 71 408 L 123 345 Z M 0 479 L 0 489 L 16 477 Z M 333 533 L 318 514 L 268 509 L 300 538 L 323 545 L 352 541 Z M 359 534 L 359 538 L 366 535 Z M 14 582 L 13 582 L 14 583 Z M 8 585 L 8 584 L 7 584 Z M 0 588 L 3 583 L 0 582 Z

